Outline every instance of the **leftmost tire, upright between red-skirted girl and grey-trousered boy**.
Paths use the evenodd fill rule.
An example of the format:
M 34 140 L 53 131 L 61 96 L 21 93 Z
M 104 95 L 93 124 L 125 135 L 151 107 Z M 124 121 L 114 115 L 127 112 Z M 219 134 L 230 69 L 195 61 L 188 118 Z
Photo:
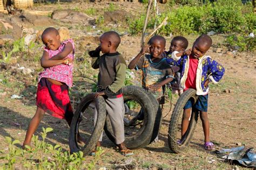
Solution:
M 98 111 L 97 123 L 93 126 L 93 109 L 90 110 L 91 103 L 95 103 Z M 84 155 L 91 153 L 103 131 L 106 119 L 106 103 L 102 96 L 95 98 L 95 94 L 86 95 L 79 103 L 73 116 L 70 132 L 69 147 L 71 153 L 83 151 Z M 86 141 L 84 146 L 79 146 L 77 134 L 80 134 Z

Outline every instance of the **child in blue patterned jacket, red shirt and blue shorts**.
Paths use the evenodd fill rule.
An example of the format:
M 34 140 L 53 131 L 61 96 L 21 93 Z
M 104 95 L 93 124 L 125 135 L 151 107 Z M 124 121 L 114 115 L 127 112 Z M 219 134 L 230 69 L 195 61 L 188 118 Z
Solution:
M 213 150 L 214 145 L 210 141 L 210 124 L 207 116 L 208 108 L 208 83 L 218 83 L 223 77 L 225 69 L 217 61 L 205 55 L 212 45 L 212 39 L 206 34 L 196 39 L 191 49 L 190 55 L 181 56 L 179 60 L 167 59 L 171 65 L 179 66 L 181 69 L 181 86 L 186 91 L 189 88 L 197 90 L 198 100 L 193 108 L 200 111 L 200 118 L 203 124 L 205 135 L 205 150 Z M 191 115 L 192 101 L 185 104 L 183 119 L 181 122 L 181 136 L 184 136 Z M 182 144 L 182 140 L 178 141 Z

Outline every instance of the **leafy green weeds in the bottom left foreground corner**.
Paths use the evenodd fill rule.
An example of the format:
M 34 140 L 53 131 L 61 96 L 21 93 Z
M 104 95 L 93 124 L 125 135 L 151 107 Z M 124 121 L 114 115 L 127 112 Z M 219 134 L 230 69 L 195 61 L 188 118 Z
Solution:
M 45 142 L 47 133 L 51 132 L 52 128 L 43 128 L 41 132 L 42 141 L 38 140 L 38 136 L 33 136 L 32 141 L 35 143 L 35 148 L 26 146 L 26 150 L 17 148 L 15 144 L 20 143 L 19 140 L 13 140 L 10 137 L 5 137 L 5 143 L 8 144 L 8 153 L 0 151 L 4 160 L 3 167 L 14 169 L 15 165 L 21 165 L 28 169 L 83 169 L 95 168 L 97 161 L 101 158 L 104 152 L 101 148 L 97 152 L 95 159 L 89 164 L 83 165 L 85 158 L 83 152 L 70 154 L 70 152 L 63 152 L 63 148 L 59 145 L 51 145 Z

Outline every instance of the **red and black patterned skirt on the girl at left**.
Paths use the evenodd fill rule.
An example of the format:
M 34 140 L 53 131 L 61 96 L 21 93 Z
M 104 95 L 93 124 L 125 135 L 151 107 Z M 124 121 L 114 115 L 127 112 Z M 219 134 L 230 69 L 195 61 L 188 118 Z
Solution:
M 53 117 L 72 119 L 73 110 L 69 99 L 69 87 L 56 85 L 42 78 L 38 83 L 36 104 Z

